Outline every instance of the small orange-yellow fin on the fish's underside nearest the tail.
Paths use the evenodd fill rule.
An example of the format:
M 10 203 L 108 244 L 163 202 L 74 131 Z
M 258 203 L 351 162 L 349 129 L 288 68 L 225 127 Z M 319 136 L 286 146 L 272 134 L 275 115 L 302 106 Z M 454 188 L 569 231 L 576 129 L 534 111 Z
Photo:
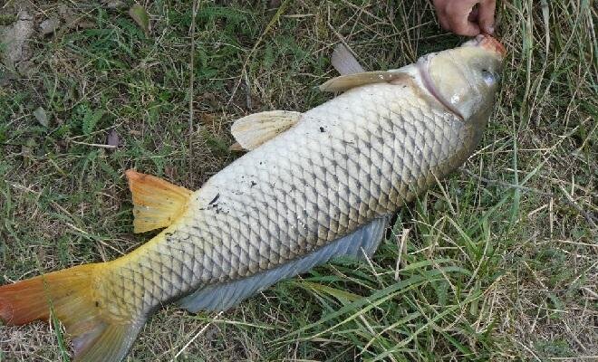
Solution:
M 167 227 L 185 211 L 192 194 L 187 188 L 132 169 L 125 174 L 133 195 L 133 232 L 143 233 Z

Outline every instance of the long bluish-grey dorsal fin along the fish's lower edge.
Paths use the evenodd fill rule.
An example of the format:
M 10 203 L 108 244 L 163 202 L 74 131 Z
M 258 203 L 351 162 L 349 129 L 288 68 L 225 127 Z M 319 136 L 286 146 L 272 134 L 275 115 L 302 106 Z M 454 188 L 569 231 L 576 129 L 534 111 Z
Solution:
M 208 285 L 178 300 L 178 303 L 193 313 L 197 313 L 199 310 L 227 310 L 256 292 L 264 291 L 277 281 L 310 271 L 313 267 L 329 262 L 333 258 L 342 256 L 361 258 L 363 253 L 369 257 L 378 248 L 388 223 L 388 216 L 377 218 L 357 231 L 328 243 L 299 259 L 248 278 Z

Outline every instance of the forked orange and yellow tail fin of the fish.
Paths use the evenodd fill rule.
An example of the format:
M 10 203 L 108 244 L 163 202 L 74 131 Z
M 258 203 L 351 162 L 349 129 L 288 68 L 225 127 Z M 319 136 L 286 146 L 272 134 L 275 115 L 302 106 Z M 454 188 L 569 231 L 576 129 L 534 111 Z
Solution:
M 121 361 L 143 320 L 115 320 L 93 286 L 101 264 L 77 266 L 0 287 L 0 320 L 9 325 L 48 320 L 52 313 L 72 337 L 74 361 Z

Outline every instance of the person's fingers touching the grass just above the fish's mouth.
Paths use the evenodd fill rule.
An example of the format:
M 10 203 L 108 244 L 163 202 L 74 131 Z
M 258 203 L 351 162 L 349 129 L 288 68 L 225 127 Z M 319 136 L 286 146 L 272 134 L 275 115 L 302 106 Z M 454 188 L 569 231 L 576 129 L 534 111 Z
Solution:
M 468 36 L 494 33 L 496 0 L 433 0 L 433 3 L 440 25 L 450 32 Z

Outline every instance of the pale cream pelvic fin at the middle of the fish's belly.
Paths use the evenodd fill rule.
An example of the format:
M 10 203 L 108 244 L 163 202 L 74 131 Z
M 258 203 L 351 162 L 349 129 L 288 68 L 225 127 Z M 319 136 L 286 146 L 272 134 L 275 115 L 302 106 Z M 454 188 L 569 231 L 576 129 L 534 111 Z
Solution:
M 300 112 L 269 110 L 236 119 L 230 132 L 241 148 L 251 150 L 290 129 L 300 118 Z

